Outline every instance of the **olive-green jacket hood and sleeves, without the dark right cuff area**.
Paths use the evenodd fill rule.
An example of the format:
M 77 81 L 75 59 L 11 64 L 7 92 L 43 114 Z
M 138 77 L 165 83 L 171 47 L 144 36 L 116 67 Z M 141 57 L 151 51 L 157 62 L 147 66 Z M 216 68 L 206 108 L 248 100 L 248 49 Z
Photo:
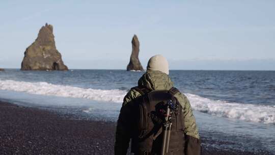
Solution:
M 147 71 L 140 78 L 138 85 L 146 87 L 149 90 L 170 90 L 172 87 L 174 87 L 174 83 L 171 81 L 170 77 L 166 73 L 162 73 L 160 71 Z M 118 149 L 122 149 L 125 151 L 125 149 L 127 150 L 128 148 L 128 143 L 130 140 L 130 129 L 124 127 L 125 123 L 127 123 L 127 119 L 124 118 L 124 115 L 126 116 L 126 113 L 130 113 L 127 109 L 127 104 L 131 100 L 139 96 L 141 96 L 139 92 L 131 89 L 124 97 L 117 124 L 115 154 L 119 154 L 116 153 L 116 150 Z M 193 140 L 197 139 L 199 141 L 200 136 L 198 126 L 196 125 L 195 116 L 193 115 L 189 100 L 184 94 L 180 92 L 176 93 L 175 97 L 178 99 L 183 108 L 185 126 L 184 133 L 191 137 Z M 120 151 L 120 154 L 124 154 L 124 152 L 122 153 Z

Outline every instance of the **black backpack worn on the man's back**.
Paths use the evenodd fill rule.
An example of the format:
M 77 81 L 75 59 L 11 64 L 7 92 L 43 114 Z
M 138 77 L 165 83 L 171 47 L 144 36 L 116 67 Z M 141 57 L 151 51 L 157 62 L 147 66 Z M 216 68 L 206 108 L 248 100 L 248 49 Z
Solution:
M 135 98 L 133 109 L 133 127 L 131 151 L 134 154 L 160 154 L 162 144 L 163 106 L 172 100 L 178 106 L 172 114 L 172 130 L 169 153 L 184 154 L 184 116 L 182 107 L 174 95 L 179 92 L 175 87 L 170 90 L 152 90 L 133 87 L 142 95 Z

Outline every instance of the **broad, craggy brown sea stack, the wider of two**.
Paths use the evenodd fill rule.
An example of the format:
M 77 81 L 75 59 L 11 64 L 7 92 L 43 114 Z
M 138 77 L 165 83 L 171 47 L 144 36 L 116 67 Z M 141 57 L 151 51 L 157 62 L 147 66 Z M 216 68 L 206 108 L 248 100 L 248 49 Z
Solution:
M 26 48 L 21 70 L 68 70 L 57 50 L 52 25 L 46 23 L 35 42 Z

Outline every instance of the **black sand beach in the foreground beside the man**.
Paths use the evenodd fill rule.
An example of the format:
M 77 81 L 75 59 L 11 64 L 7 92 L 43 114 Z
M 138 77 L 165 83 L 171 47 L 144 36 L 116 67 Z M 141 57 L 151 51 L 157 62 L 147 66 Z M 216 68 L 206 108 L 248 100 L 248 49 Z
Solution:
M 114 154 L 115 122 L 68 119 L 0 101 L 0 154 Z M 216 143 L 204 139 L 203 143 Z M 271 154 L 204 148 L 205 155 Z

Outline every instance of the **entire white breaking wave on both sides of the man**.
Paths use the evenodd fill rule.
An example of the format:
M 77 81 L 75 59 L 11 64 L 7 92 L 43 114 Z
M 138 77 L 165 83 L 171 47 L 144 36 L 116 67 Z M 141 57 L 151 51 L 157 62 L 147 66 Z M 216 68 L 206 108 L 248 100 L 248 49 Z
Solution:
M 98 101 L 123 101 L 126 90 L 101 90 L 73 86 L 53 85 L 46 82 L 20 82 L 0 80 L 1 90 L 21 91 L 31 94 L 53 95 L 61 97 L 87 98 Z M 275 124 L 275 106 L 240 104 L 222 100 L 212 100 L 195 94 L 186 94 L 194 110 L 211 115 L 240 119 L 249 122 Z

